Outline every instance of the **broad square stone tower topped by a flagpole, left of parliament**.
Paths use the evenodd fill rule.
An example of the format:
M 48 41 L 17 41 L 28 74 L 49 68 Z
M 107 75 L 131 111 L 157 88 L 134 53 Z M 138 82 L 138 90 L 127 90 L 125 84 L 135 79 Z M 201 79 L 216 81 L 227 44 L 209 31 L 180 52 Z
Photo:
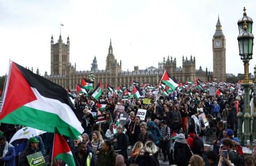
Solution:
M 65 69 L 69 65 L 69 37 L 67 44 L 63 43 L 61 35 L 58 43 L 53 43 L 53 36 L 51 37 L 51 74 L 63 75 Z

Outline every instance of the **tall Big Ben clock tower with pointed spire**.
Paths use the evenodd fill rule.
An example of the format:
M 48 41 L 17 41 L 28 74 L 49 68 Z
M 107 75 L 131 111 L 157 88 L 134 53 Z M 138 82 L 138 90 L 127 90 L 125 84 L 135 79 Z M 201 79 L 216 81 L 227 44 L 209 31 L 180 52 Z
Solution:
M 220 18 L 216 24 L 215 34 L 212 38 L 213 51 L 213 77 L 217 81 L 226 81 L 226 38 L 222 32 Z

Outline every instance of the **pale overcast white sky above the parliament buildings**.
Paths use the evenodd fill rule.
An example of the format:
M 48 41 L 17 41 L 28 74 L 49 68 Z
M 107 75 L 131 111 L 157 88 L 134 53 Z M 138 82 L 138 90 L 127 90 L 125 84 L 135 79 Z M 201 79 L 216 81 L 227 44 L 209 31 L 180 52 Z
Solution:
M 254 0 L 0 0 L 0 76 L 10 60 L 50 74 L 51 36 L 57 43 L 60 23 L 63 42 L 70 38 L 70 63 L 78 71 L 90 71 L 94 56 L 98 69 L 105 70 L 110 38 L 123 71 L 135 65 L 158 68 L 167 56 L 176 57 L 177 67 L 182 67 L 183 55 L 195 56 L 196 69 L 212 71 L 218 15 L 226 37 L 226 73 L 244 73 L 237 42 L 244 6 L 247 16 L 256 19 Z

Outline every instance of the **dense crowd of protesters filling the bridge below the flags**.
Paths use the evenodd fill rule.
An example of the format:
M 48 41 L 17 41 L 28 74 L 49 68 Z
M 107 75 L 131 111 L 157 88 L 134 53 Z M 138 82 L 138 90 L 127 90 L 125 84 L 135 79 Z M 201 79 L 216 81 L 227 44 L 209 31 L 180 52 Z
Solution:
M 143 104 L 143 98 L 122 100 L 116 95 L 110 99 L 109 94 L 106 92 L 98 99 L 81 94 L 75 99 L 74 107 L 84 112 L 81 121 L 84 133 L 81 139 L 66 140 L 76 165 L 159 165 L 158 159 L 170 165 L 255 164 L 256 149 L 252 155 L 244 157 L 236 136 L 237 107 L 244 113 L 243 95 L 238 95 L 236 90 L 227 90 L 227 94 L 216 96 L 190 89 L 187 93 L 177 90 L 169 96 L 148 91 L 145 97 L 150 99 L 150 104 Z M 97 103 L 103 101 L 107 105 L 100 110 Z M 120 114 L 115 110 L 116 105 L 123 105 L 124 112 L 129 114 L 124 125 L 116 124 Z M 137 115 L 138 109 L 147 110 L 145 119 Z M 105 122 L 95 123 L 94 115 L 99 114 L 106 114 Z M 7 143 L 17 126 L 5 124 L 1 127 Z M 6 148 L 1 140 L 2 137 L 0 166 L 5 162 L 3 152 Z M 40 145 L 43 155 L 49 155 L 51 162 L 53 136 L 46 133 L 41 140 L 29 140 L 29 150 L 32 146 L 36 151 L 39 146 L 34 143 L 38 145 L 39 142 L 43 144 Z M 213 148 L 203 159 L 205 144 Z M 128 156 L 127 149 L 132 151 L 131 156 Z M 222 151 L 227 151 L 227 156 L 222 156 L 225 154 Z M 15 157 L 17 155 L 10 160 Z M 26 165 L 24 161 L 22 165 Z

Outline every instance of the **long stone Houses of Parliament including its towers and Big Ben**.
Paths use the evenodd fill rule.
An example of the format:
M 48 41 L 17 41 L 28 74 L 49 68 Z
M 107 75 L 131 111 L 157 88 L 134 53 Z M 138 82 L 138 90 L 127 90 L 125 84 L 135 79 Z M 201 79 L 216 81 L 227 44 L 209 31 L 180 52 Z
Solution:
M 212 77 L 217 78 L 219 81 L 226 81 L 226 39 L 223 35 L 219 18 L 212 38 L 213 72 L 208 71 L 207 68 L 203 70 L 202 67 L 196 69 L 196 59 L 192 55 L 190 57 L 182 57 L 182 68 L 177 67 L 175 57 L 167 56 L 166 59 L 163 57 L 163 62 L 158 62 L 158 68 L 149 67 L 141 70 L 139 66 L 134 66 L 133 71 L 123 71 L 122 60 L 117 61 L 115 59 L 111 39 L 105 70 L 98 69 L 97 58 L 94 57 L 91 70 L 77 71 L 76 63 L 72 65 L 69 62 L 69 43 L 69 37 L 67 37 L 66 44 L 63 43 L 61 35 L 55 44 L 53 36 L 51 37 L 51 73 L 50 75 L 47 72 L 44 74 L 46 79 L 65 89 L 75 89 L 76 84 L 80 84 L 82 78 L 89 78 L 91 72 L 95 76 L 94 87 L 101 81 L 102 89 L 105 89 L 106 84 L 114 88 L 119 85 L 128 88 L 132 81 L 156 86 L 157 76 L 161 79 L 165 70 L 180 82 L 195 81 L 196 78 L 202 81 L 212 81 Z M 37 72 L 39 73 L 39 71 Z

